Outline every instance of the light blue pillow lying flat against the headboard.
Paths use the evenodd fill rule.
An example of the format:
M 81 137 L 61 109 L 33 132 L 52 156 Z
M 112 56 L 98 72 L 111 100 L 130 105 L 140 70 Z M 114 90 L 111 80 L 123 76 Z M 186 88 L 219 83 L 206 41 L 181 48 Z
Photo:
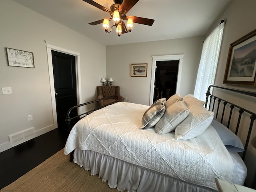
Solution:
M 215 128 L 223 144 L 229 152 L 243 152 L 244 145 L 240 138 L 229 130 L 226 126 L 218 122 L 216 119 L 212 120 L 211 125 Z

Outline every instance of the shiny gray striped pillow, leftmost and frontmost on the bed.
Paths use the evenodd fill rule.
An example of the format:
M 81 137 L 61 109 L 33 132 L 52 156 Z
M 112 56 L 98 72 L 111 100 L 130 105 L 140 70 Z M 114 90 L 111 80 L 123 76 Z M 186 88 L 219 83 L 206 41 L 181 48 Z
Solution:
M 156 125 L 156 123 L 164 115 L 166 109 L 165 102 L 166 98 L 159 99 L 145 111 L 142 117 L 142 127 L 140 129 L 151 128 Z

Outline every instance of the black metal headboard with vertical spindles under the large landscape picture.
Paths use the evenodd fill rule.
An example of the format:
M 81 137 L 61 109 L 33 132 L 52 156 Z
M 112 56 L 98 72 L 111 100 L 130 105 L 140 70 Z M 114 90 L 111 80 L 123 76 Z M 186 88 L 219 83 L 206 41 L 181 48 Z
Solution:
M 223 102 L 223 108 L 222 108 L 222 116 L 221 116 L 221 120 L 220 120 L 220 123 L 222 123 L 223 121 L 223 117 L 224 117 L 224 112 L 225 112 L 225 109 L 226 109 L 226 105 L 229 104 L 230 106 L 230 112 L 229 112 L 229 117 L 228 117 L 228 125 L 227 127 L 229 128 L 230 126 L 230 120 L 231 120 L 231 117 L 232 117 L 232 112 L 233 112 L 233 109 L 234 108 L 237 108 L 239 109 L 239 117 L 238 117 L 238 121 L 237 121 L 237 124 L 236 124 L 236 132 L 235 134 L 237 135 L 238 133 L 238 129 L 239 129 L 239 125 L 240 125 L 240 120 L 241 120 L 241 117 L 242 117 L 242 114 L 244 114 L 244 112 L 250 114 L 250 127 L 248 129 L 248 134 L 247 134 L 247 138 L 246 138 L 246 143 L 245 143 L 245 146 L 244 146 L 244 152 L 243 152 L 243 155 L 242 155 L 242 159 L 244 160 L 245 158 L 245 155 L 246 155 L 246 151 L 247 151 L 247 148 L 248 148 L 248 144 L 249 144 L 249 140 L 250 140 L 250 135 L 251 135 L 251 132 L 252 132 L 252 126 L 253 126 L 253 123 L 254 123 L 254 120 L 256 119 L 256 114 L 249 111 L 249 110 L 246 110 L 236 104 L 233 104 L 231 102 L 228 102 L 222 98 L 219 98 L 217 96 L 214 96 L 210 93 L 210 88 L 217 88 L 217 89 L 222 89 L 222 90 L 228 90 L 228 91 L 231 91 L 231 92 L 236 92 L 236 93 L 239 93 L 239 94 L 243 94 L 243 95 L 248 95 L 248 96 L 252 96 L 252 97 L 256 97 L 256 93 L 255 92 L 250 92 L 250 91 L 244 91 L 244 90 L 238 90 L 238 89 L 232 89 L 232 88 L 226 88 L 226 87 L 220 87 L 220 86 L 215 86 L 215 85 L 210 85 L 208 87 L 208 90 L 206 92 L 206 104 L 205 104 L 205 108 L 208 107 L 208 110 L 210 111 L 214 111 L 214 107 L 217 105 L 217 110 L 216 110 L 216 113 L 215 113 L 215 117 L 217 118 L 218 117 L 218 113 L 219 113 L 219 109 L 220 109 L 220 104 Z M 209 97 L 210 97 L 210 102 L 208 103 L 208 100 L 209 100 Z M 216 102 L 216 99 L 217 102 Z M 213 102 L 213 103 L 212 103 Z M 210 109 L 211 108 L 211 109 Z

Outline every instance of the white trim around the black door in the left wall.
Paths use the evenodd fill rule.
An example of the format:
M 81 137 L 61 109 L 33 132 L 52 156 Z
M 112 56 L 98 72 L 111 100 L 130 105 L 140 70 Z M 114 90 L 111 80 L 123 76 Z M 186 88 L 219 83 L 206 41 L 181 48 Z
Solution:
M 82 103 L 80 93 L 82 92 L 81 88 L 81 74 L 80 74 L 80 52 L 74 50 L 72 48 L 68 48 L 66 46 L 62 46 L 50 41 L 45 40 L 46 49 L 47 49 L 47 58 L 48 58 L 48 70 L 49 70 L 49 78 L 50 78 L 50 92 L 52 99 L 52 116 L 53 116 L 53 124 L 57 128 L 57 110 L 56 110 L 56 100 L 55 100 L 55 88 L 54 88 L 54 76 L 53 76 L 53 68 L 52 68 L 52 50 L 62 52 L 65 54 L 75 56 L 75 65 L 76 65 L 76 95 L 77 95 L 77 104 Z M 78 110 L 78 114 L 80 111 Z

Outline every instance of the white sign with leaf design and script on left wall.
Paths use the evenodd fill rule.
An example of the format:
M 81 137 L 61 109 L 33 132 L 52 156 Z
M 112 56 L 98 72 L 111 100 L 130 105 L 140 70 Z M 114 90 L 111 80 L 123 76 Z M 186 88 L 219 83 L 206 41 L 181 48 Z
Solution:
M 35 68 L 32 52 L 5 48 L 8 66 Z

